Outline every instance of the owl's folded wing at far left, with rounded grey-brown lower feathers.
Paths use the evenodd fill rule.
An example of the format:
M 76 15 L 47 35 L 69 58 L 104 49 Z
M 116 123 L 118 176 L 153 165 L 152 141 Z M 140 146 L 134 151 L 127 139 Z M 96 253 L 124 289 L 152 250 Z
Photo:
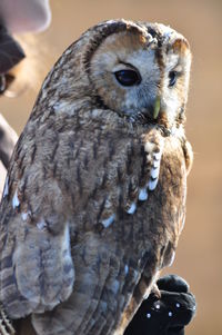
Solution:
M 49 199 L 60 193 L 30 159 L 20 138 L 0 206 L 0 302 L 11 318 L 52 309 L 74 282 L 69 223 Z

